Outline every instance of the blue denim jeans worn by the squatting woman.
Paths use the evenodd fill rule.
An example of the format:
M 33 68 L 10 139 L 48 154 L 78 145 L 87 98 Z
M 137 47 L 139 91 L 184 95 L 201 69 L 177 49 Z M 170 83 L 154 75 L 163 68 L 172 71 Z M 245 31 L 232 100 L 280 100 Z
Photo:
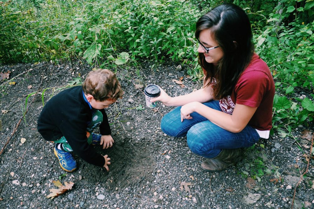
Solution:
M 221 111 L 219 102 L 212 100 L 203 103 L 204 105 Z M 191 151 L 206 158 L 217 156 L 222 149 L 235 149 L 250 147 L 258 141 L 257 131 L 250 125 L 239 133 L 232 133 L 218 125 L 215 125 L 207 118 L 194 112 L 193 119 L 185 119 L 181 122 L 181 106 L 166 114 L 161 120 L 161 130 L 165 134 L 181 137 L 187 136 L 187 145 Z

